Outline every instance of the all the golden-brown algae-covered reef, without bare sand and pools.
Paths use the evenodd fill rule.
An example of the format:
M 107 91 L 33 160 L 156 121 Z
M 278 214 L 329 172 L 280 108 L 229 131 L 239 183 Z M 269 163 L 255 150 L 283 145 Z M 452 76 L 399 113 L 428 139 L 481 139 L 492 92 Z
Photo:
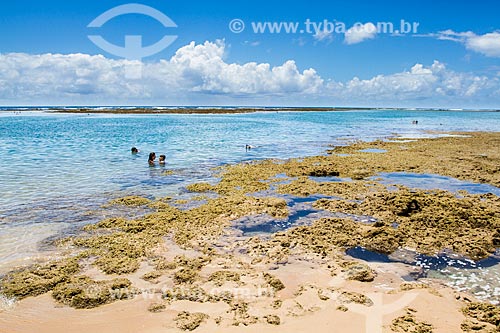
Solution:
M 246 245 L 251 247 L 249 253 L 254 256 L 253 263 L 259 260 L 282 260 L 290 253 L 290 249 L 297 246 L 321 256 L 332 255 L 338 248 L 361 245 L 383 253 L 391 253 L 401 246 L 428 254 L 451 248 L 472 258 L 482 258 L 500 245 L 498 197 L 461 193 L 463 198 L 459 198 L 444 191 L 412 191 L 404 188 L 391 196 L 394 193 L 390 194 L 384 186 L 374 181 L 316 182 L 309 178 L 340 176 L 365 179 L 379 172 L 412 171 L 438 173 L 498 186 L 500 154 L 496 147 L 500 143 L 500 135 L 471 135 L 472 138 L 443 138 L 404 144 L 383 141 L 357 143 L 352 147 L 334 150 L 335 153 L 349 153 L 349 156 L 332 154 L 226 166 L 218 170 L 221 178 L 219 183 L 198 183 L 188 188 L 193 192 L 213 191 L 220 195 L 217 199 L 206 199 L 201 206 L 182 211 L 170 204 L 171 198 L 154 202 L 141 197 L 121 198 L 112 201 L 112 204 L 148 205 L 155 211 L 136 219 L 102 220 L 86 227 L 87 234 L 68 238 L 61 244 L 81 251 L 78 258 L 91 258 L 91 262 L 107 274 L 136 271 L 141 261 L 155 257 L 154 251 L 164 243 L 165 237 L 171 237 L 182 248 L 203 249 L 207 255 L 213 255 L 213 251 L 209 250 L 211 244 L 223 234 L 224 228 L 232 220 L 264 213 L 276 218 L 288 216 L 285 200 L 256 198 L 247 193 L 268 190 L 273 183 L 290 180 L 290 184 L 278 185 L 278 192 L 299 196 L 321 193 L 339 197 L 340 200 L 320 200 L 315 206 L 334 212 L 371 215 L 378 218 L 379 222 L 364 225 L 351 219 L 320 219 L 311 226 L 275 234 L 269 242 L 249 242 Z M 387 152 L 359 152 L 365 148 L 386 149 Z M 279 174 L 285 174 L 287 178 L 276 178 Z M 392 223 L 397 223 L 399 227 L 390 227 Z M 175 270 L 171 272 L 174 281 L 183 287 L 196 283 L 200 278 L 201 267 L 207 262 L 155 260 L 157 270 Z M 74 262 L 67 266 L 67 270 L 56 267 L 54 274 L 44 272 L 44 269 L 9 273 L 0 281 L 1 291 L 22 298 L 57 287 L 61 294 L 65 294 L 64 284 L 78 284 L 75 275 L 79 268 L 76 259 Z M 371 279 L 369 271 L 364 269 L 352 269 L 349 273 L 347 268 L 346 273 L 347 276 L 355 277 L 355 280 Z M 89 285 L 92 283 L 87 282 Z M 276 286 L 280 288 L 278 284 Z M 85 295 L 85 288 L 82 290 Z M 232 295 L 219 296 L 209 299 L 238 304 Z M 91 305 L 101 304 L 100 299 L 89 298 L 88 302 Z M 244 308 L 243 305 L 241 307 Z M 241 307 L 236 306 L 233 312 L 241 312 Z M 248 313 L 243 315 L 245 312 L 242 311 L 241 318 L 235 322 L 248 324 L 254 320 Z

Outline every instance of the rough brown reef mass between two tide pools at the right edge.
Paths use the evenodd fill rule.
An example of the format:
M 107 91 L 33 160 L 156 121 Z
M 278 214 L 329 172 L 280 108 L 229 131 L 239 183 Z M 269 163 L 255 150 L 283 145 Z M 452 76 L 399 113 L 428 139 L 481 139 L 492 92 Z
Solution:
M 346 234 L 356 236 L 355 245 L 382 253 L 408 247 L 435 254 L 449 248 L 482 259 L 495 251 L 494 233 L 500 228 L 500 200 L 488 195 L 457 197 L 446 191 L 400 187 L 398 191 L 368 193 L 362 202 L 321 199 L 314 207 L 377 218 L 379 223 L 371 227 L 351 224 Z M 387 226 L 393 223 L 397 229 Z

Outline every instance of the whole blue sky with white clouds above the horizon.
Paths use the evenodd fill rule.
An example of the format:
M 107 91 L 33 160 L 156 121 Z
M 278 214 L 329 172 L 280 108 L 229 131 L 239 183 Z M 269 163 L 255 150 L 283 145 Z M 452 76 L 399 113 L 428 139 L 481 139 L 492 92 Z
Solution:
M 500 108 L 499 12 L 494 0 L 2 1 L 0 105 Z

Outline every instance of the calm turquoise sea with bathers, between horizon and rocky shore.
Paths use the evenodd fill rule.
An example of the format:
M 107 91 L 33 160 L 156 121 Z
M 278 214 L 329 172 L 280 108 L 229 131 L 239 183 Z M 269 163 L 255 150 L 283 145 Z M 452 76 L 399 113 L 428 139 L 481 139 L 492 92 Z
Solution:
M 412 120 L 418 120 L 413 125 Z M 500 131 L 500 112 L 349 111 L 236 115 L 76 115 L 0 112 L 0 268 L 40 242 L 93 222 L 85 212 L 128 194 L 176 195 L 212 167 L 321 154 L 329 144 Z M 245 151 L 245 144 L 256 146 Z M 130 148 L 141 150 L 133 156 Z M 147 155 L 167 156 L 166 169 Z M 43 242 L 42 242 L 43 243 Z M 0 269 L 1 271 L 1 269 Z

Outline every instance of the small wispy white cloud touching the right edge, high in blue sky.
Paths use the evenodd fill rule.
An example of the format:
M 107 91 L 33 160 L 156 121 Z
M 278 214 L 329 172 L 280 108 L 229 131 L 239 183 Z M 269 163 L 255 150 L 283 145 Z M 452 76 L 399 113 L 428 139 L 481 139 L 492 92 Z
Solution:
M 451 40 L 462 43 L 467 49 L 481 53 L 487 57 L 500 58 L 500 32 L 498 31 L 476 35 L 472 31 L 455 32 L 453 30 L 444 30 L 431 36 L 440 40 Z

